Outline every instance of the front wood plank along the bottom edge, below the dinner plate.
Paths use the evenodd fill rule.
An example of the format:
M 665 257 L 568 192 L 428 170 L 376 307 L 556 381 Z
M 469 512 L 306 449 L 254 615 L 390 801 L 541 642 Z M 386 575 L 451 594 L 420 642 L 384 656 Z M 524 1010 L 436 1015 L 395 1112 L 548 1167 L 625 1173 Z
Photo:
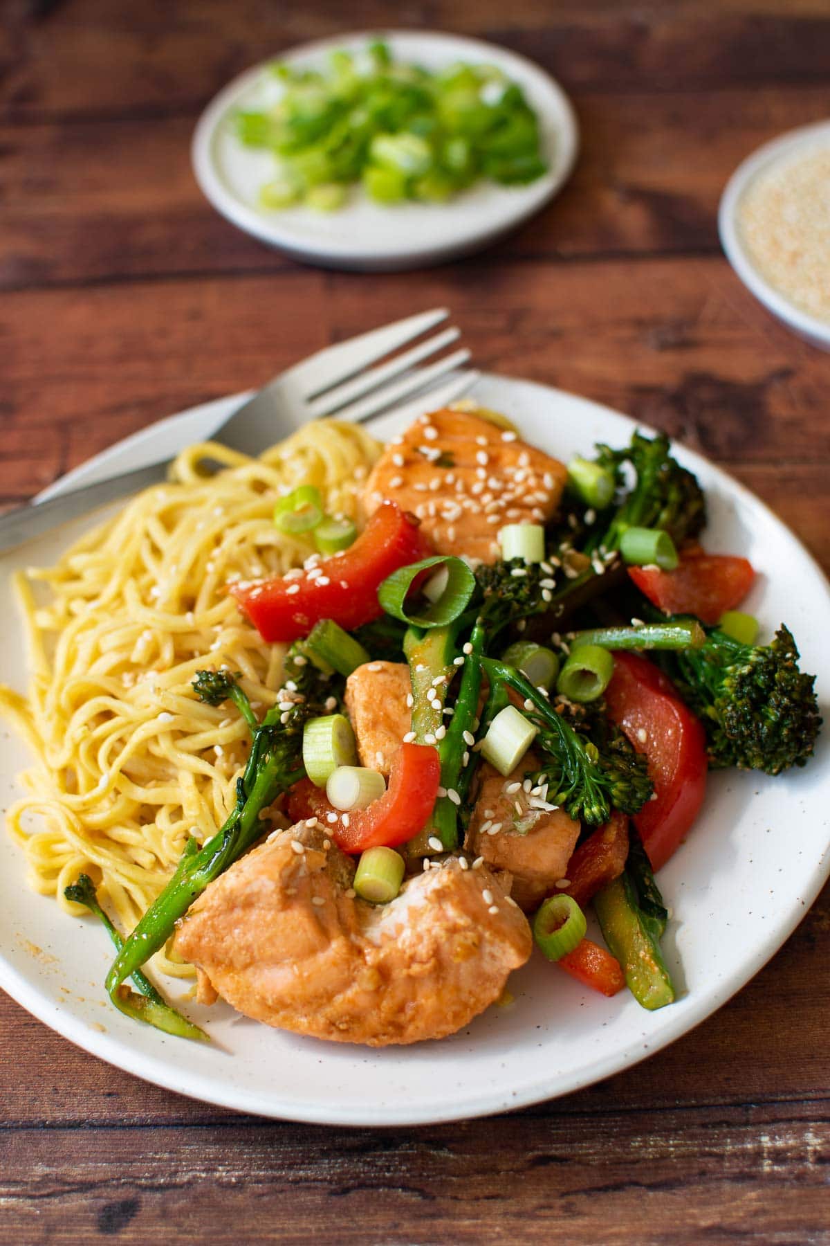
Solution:
M 826 1242 L 826 1100 L 357 1133 L 6 1134 L 0 1242 Z M 417 1227 L 416 1227 L 417 1225 Z M 209 1226 L 209 1229 L 208 1229 Z M 520 1226 L 520 1227 L 519 1227 Z M 602 1226 L 601 1230 L 599 1226 Z M 755 1227 L 759 1232 L 755 1232 Z M 763 1227 L 760 1227 L 763 1226 Z

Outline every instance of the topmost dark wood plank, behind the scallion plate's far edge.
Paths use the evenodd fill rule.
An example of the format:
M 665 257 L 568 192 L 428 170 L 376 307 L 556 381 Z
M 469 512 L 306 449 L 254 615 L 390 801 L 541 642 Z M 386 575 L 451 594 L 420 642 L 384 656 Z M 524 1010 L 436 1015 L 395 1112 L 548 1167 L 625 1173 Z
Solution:
M 22 6 L 21 6 L 22 9 Z M 25 12 L 25 9 L 22 9 Z M 345 25 L 388 25 L 385 0 L 361 0 L 343 20 L 338 0 L 286 0 L 279 7 L 238 0 L 119 5 L 73 0 L 47 20 L 25 22 L 6 52 L 0 108 L 12 118 L 153 116 L 193 112 L 235 74 L 294 44 Z M 499 0 L 409 0 L 399 25 L 472 34 L 526 52 L 576 87 L 673 91 L 724 82 L 808 81 L 830 74 L 830 15 L 819 0 L 781 11 L 767 2 L 712 6 L 706 0 L 636 11 L 604 2 L 505 12 Z

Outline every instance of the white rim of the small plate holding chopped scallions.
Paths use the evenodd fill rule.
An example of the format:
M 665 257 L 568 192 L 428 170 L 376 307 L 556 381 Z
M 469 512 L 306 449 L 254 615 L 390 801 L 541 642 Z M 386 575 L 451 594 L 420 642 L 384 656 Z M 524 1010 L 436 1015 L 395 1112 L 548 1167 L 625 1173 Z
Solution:
M 428 226 L 428 237 L 417 243 L 407 237 L 406 223 L 399 229 L 394 228 L 394 208 L 385 209 L 382 217 L 378 214 L 371 232 L 365 229 L 362 222 L 358 222 L 357 229 L 353 228 L 348 209 L 343 209 L 332 218 L 343 223 L 341 235 L 316 237 L 312 224 L 320 221 L 319 213 L 309 209 L 304 214 L 304 227 L 302 222 L 294 222 L 289 214 L 256 211 L 229 188 L 219 168 L 215 152 L 219 128 L 236 101 L 266 70 L 269 62 L 264 61 L 240 74 L 210 101 L 193 135 L 190 158 L 195 179 L 213 207 L 231 224 L 306 263 L 358 270 L 394 270 L 444 263 L 453 257 L 478 250 L 534 216 L 561 189 L 570 177 L 579 151 L 576 115 L 561 86 L 540 65 L 518 52 L 443 31 L 382 30 L 345 32 L 316 40 L 287 49 L 271 60 L 315 60 L 335 49 L 363 46 L 377 37 L 386 39 L 402 57 L 418 59 L 423 55 L 418 49 L 429 45 L 445 54 L 447 64 L 455 59 L 474 57 L 493 62 L 523 81 L 531 88 L 531 102 L 548 128 L 549 147 L 553 143 L 549 172 L 526 187 L 498 188 L 498 194 L 489 196 L 484 203 L 480 202 L 479 188 L 473 187 L 448 204 L 404 208 L 403 211 L 417 211 L 424 229 Z

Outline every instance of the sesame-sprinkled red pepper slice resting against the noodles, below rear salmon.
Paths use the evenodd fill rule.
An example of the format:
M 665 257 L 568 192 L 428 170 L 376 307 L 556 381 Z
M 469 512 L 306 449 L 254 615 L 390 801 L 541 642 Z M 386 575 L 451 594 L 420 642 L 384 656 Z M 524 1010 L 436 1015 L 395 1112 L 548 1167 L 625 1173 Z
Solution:
M 377 589 L 387 576 L 433 552 L 418 523 L 394 502 L 383 502 L 355 543 L 312 573 L 233 584 L 230 592 L 264 640 L 296 640 L 320 619 L 351 630 L 383 613 Z

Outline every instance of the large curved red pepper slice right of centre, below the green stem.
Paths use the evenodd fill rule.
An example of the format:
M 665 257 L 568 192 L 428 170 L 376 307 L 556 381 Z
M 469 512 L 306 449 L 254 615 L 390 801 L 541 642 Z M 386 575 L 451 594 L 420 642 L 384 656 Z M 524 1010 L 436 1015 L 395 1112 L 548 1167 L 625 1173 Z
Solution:
M 609 716 L 648 759 L 655 797 L 633 824 L 652 868 L 664 865 L 697 817 L 706 794 L 706 733 L 653 663 L 615 653 L 605 690 Z

